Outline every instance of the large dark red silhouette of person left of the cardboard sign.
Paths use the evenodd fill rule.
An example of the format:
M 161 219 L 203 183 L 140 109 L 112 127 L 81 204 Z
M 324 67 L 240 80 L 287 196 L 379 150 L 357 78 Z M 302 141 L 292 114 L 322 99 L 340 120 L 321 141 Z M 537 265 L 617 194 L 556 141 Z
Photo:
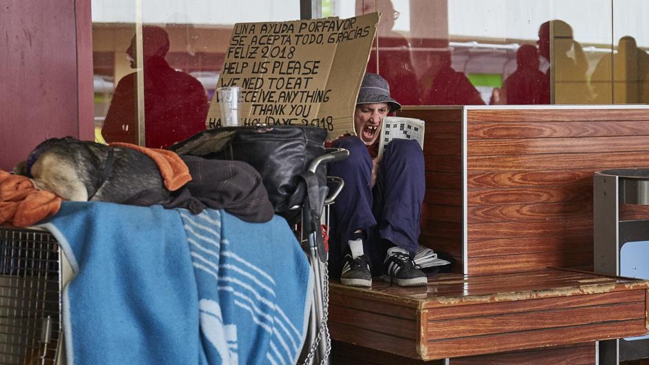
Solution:
M 131 68 L 136 66 L 135 37 L 126 50 Z M 142 27 L 144 58 L 144 120 L 146 147 L 168 148 L 177 141 L 205 129 L 209 109 L 207 95 L 200 81 L 174 70 L 164 59 L 169 50 L 169 36 L 158 26 Z M 101 135 L 108 143 L 137 143 L 135 130 L 137 72 L 119 80 Z

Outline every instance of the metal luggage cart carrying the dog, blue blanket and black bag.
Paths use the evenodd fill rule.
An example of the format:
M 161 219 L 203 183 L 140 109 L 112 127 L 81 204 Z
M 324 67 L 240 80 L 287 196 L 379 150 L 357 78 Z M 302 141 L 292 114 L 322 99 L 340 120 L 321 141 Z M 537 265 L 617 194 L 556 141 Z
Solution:
M 313 160 L 309 170 L 316 172 L 321 164 L 348 155 L 342 148 L 329 148 L 327 154 Z M 328 177 L 327 182 L 331 188 L 321 188 L 320 199 L 323 224 L 328 227 L 329 205 L 344 183 L 334 177 Z M 295 208 L 302 209 L 304 215 L 301 206 Z M 300 362 L 328 364 L 331 342 L 327 330 L 327 250 L 322 244 L 322 232 L 304 235 L 296 230 L 296 235 L 314 275 L 309 331 Z M 0 365 L 64 364 L 61 293 L 71 277 L 69 264 L 49 232 L 0 227 Z

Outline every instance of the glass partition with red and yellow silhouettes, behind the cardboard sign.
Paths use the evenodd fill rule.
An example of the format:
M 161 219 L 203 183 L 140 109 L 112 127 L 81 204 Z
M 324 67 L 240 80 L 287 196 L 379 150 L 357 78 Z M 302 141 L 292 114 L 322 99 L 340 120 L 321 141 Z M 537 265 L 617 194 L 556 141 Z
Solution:
M 382 13 L 367 70 L 404 105 L 649 100 L 649 1 L 312 1 L 324 17 Z M 166 147 L 204 128 L 233 24 L 307 5 L 93 0 L 97 140 Z

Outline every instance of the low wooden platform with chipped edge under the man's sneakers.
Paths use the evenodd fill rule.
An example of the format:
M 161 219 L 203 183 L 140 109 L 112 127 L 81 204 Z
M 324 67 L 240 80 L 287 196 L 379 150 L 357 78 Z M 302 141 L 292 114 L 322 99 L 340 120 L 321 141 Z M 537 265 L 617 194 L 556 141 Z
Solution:
M 645 335 L 649 281 L 547 268 L 428 286 L 331 282 L 329 330 L 338 342 L 432 360 Z

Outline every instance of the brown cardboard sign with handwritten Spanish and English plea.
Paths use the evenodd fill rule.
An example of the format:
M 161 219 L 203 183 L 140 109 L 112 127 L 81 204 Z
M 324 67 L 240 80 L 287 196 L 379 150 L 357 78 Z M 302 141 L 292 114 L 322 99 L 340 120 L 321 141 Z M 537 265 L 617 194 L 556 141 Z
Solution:
M 379 15 L 237 23 L 217 88 L 240 86 L 239 125 L 353 132 L 353 112 Z M 215 93 L 207 128 L 222 126 Z

